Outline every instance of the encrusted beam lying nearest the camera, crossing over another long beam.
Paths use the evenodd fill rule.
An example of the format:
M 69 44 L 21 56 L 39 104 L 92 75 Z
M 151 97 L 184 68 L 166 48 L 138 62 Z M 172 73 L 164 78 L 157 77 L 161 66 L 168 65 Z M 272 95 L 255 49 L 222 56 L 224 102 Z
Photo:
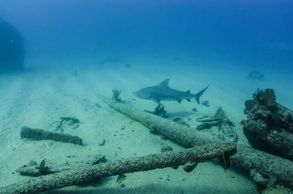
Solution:
M 209 144 L 181 151 L 166 151 L 97 165 L 86 165 L 0 187 L 0 194 L 38 194 L 80 183 L 94 182 L 102 177 L 167 167 L 177 169 L 181 165 L 187 165 L 185 169 L 188 172 L 190 163 L 207 162 L 223 155 L 231 156 L 236 151 L 235 143 Z

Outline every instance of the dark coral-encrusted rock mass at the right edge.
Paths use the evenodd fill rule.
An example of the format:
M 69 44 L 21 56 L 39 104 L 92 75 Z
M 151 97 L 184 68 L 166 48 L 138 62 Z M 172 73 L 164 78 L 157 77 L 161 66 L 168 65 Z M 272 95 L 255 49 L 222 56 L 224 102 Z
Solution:
M 272 89 L 257 93 L 263 96 L 246 103 L 244 134 L 253 148 L 293 161 L 293 111 L 275 102 Z

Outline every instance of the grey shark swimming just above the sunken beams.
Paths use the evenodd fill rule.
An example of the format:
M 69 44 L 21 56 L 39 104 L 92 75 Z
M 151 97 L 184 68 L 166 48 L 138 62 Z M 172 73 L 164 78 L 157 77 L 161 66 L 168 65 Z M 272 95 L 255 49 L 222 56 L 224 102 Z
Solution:
M 158 86 L 151 86 L 151 87 L 146 87 L 146 88 L 137 90 L 133 92 L 132 95 L 140 99 L 152 100 L 162 107 L 164 107 L 164 105 L 160 103 L 162 100 L 176 101 L 179 104 L 181 104 L 181 101 L 184 99 L 190 102 L 191 98 L 195 98 L 196 102 L 200 104 L 199 97 L 201 97 L 201 95 L 209 87 L 207 86 L 205 89 L 201 90 L 200 92 L 196 94 L 190 94 L 190 90 L 183 92 L 183 91 L 169 88 L 169 80 L 170 79 L 164 80 Z

